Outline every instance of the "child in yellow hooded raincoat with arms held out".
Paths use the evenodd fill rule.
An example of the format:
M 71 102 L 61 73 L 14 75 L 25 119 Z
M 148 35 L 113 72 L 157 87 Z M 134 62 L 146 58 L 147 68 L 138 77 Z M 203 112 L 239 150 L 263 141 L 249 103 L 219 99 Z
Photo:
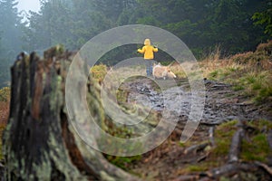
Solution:
M 146 66 L 147 76 L 152 75 L 152 65 L 154 63 L 154 52 L 158 52 L 158 48 L 151 45 L 150 39 L 144 40 L 144 46 L 141 49 L 138 49 L 138 52 L 143 53 L 143 59 Z

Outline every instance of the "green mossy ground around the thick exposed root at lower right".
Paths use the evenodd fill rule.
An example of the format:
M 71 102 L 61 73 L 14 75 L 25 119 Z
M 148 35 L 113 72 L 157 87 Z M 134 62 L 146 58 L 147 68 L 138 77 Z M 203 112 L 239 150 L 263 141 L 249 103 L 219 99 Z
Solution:
M 207 171 L 212 167 L 220 167 L 226 164 L 228 161 L 228 153 L 231 144 L 232 137 L 237 131 L 237 120 L 229 121 L 219 125 L 215 129 L 215 143 L 216 147 L 210 149 L 209 157 L 205 162 L 201 162 L 198 165 L 189 165 L 185 167 L 180 172 L 190 173 L 190 172 L 202 172 Z M 271 157 L 272 151 L 270 150 L 267 142 L 267 133 L 264 129 L 272 129 L 272 122 L 268 120 L 254 120 L 248 121 L 248 126 L 254 127 L 256 130 L 248 135 L 248 139 L 244 138 L 242 140 L 241 152 L 239 154 L 239 159 L 242 161 L 261 161 L 267 162 L 267 157 Z M 181 145 L 186 147 L 186 145 Z

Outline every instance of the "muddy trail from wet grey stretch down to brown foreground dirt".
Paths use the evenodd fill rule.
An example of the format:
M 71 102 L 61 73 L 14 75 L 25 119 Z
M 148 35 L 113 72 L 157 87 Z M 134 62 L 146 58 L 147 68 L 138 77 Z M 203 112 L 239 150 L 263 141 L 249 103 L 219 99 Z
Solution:
M 167 80 L 156 81 L 169 83 Z M 188 147 L 180 147 L 180 135 L 189 117 L 190 100 L 192 99 L 188 81 L 177 81 L 178 87 L 169 85 L 169 89 L 164 91 L 168 93 L 163 95 L 156 86 L 154 87 L 156 82 L 151 79 L 127 81 L 121 85 L 120 89 L 128 92 L 128 102 L 136 101 L 158 112 L 167 109 L 170 114 L 179 116 L 178 125 L 170 138 L 158 148 L 143 154 L 140 161 L 128 166 L 131 173 L 141 176 L 144 180 L 199 180 L 199 177 L 179 178 L 179 176 L 191 174 L 186 167 L 198 167 L 198 164 L 209 157 L 209 147 L 206 142 L 209 141 L 211 129 L 234 119 L 244 121 L 271 120 L 272 115 L 268 108 L 271 108 L 271 105 L 268 107 L 267 105 L 257 106 L 242 96 L 241 92 L 232 90 L 231 85 L 209 80 L 204 80 L 204 83 L 206 89 L 205 107 L 199 127 L 189 139 L 189 145 L 193 146 L 192 148 L 189 145 Z M 176 101 L 177 94 L 180 94 L 181 103 Z M 194 148 L 194 145 L 197 148 Z M 223 158 L 223 161 L 219 162 L 224 161 L 226 159 Z M 208 164 L 206 167 L 209 170 L 214 166 Z M 247 176 L 245 180 L 248 180 Z M 264 180 L 266 179 L 265 176 Z

